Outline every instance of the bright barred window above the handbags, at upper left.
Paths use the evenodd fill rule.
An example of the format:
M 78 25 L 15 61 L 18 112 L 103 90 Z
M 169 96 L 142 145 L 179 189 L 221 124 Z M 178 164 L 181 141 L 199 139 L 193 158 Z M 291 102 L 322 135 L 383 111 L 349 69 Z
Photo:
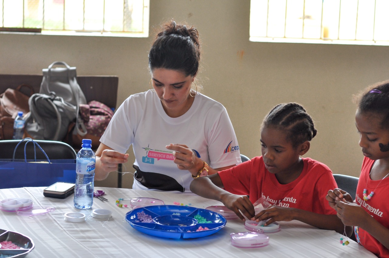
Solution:
M 149 36 L 149 0 L 0 0 L 0 31 Z

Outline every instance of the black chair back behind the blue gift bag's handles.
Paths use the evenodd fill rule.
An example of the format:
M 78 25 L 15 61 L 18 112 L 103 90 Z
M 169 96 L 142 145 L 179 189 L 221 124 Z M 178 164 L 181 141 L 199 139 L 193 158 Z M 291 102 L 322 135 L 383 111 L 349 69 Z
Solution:
M 21 140 L 2 140 L 0 141 L 0 159 L 12 159 L 16 145 Z M 77 153 L 72 146 L 61 141 L 34 140 L 46 152 L 49 159 L 75 159 Z M 27 140 L 25 140 L 27 142 Z M 24 159 L 25 142 L 22 142 L 16 149 L 15 159 Z M 46 160 L 42 151 L 36 147 L 37 159 Z M 27 143 L 26 158 L 34 159 L 34 144 Z

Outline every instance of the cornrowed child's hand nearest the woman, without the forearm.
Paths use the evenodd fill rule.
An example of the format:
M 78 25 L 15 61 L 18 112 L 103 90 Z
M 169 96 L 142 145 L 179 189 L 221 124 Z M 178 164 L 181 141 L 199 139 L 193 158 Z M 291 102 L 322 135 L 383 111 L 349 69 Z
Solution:
M 237 216 L 243 221 L 245 221 L 244 216 L 246 216 L 248 219 L 254 217 L 254 206 L 252 205 L 249 197 L 246 195 L 235 195 L 227 193 L 221 196 L 221 202 L 223 202 L 223 204 L 228 209 L 235 212 L 235 214 L 237 214 Z M 242 214 L 244 216 L 242 216 Z

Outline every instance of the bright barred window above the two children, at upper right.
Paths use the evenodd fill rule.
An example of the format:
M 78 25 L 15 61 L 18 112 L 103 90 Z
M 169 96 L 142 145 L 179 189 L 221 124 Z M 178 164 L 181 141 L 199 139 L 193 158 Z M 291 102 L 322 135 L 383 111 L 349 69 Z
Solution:
M 389 45 L 388 0 L 251 0 L 250 41 Z

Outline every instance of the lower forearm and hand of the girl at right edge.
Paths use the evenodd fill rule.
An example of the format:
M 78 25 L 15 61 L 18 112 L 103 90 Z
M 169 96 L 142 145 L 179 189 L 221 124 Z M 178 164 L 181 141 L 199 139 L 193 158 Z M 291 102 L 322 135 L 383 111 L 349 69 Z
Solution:
M 389 249 L 389 228 L 380 224 L 358 204 L 341 200 L 338 197 L 336 199 L 335 210 L 344 225 L 363 228 Z

